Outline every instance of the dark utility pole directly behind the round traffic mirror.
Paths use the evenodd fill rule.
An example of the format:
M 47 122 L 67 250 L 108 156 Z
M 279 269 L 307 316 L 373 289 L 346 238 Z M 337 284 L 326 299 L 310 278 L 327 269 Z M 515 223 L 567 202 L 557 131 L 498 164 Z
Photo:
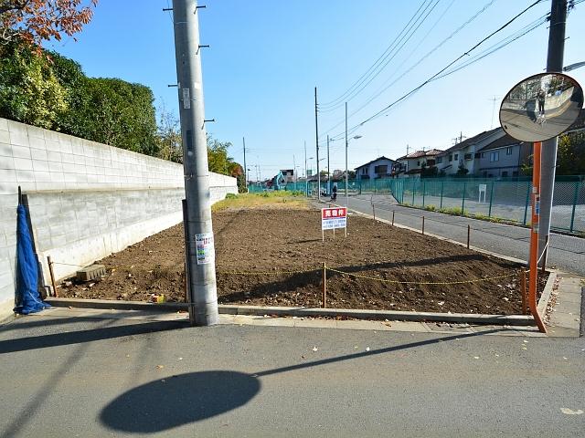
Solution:
M 548 30 L 547 71 L 562 73 L 565 54 L 565 25 L 567 21 L 567 0 L 552 0 L 550 7 L 550 28 Z M 550 234 L 552 195 L 555 187 L 558 137 L 542 142 L 540 155 L 540 233 L 538 234 L 538 258 L 540 266 L 547 265 L 546 252 Z M 541 258 L 542 257 L 542 258 Z

